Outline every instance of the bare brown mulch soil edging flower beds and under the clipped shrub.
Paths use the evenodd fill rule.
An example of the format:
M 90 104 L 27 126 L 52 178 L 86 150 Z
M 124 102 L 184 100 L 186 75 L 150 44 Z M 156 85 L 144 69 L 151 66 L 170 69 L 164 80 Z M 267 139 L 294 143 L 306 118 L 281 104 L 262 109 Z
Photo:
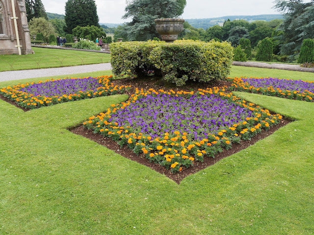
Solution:
M 169 91 L 172 89 L 175 92 L 182 91 L 182 90 L 189 92 L 189 91 L 193 91 L 193 90 L 197 91 L 198 89 L 206 89 L 206 88 L 213 88 L 213 87 L 223 87 L 223 86 L 229 87 L 231 84 L 231 82 L 227 82 L 227 81 L 216 81 L 216 82 L 211 83 L 211 84 L 188 82 L 186 85 L 178 88 L 175 86 L 175 84 L 165 82 L 164 80 L 161 80 L 161 79 L 156 80 L 156 79 L 151 78 L 151 77 L 148 77 L 146 79 L 124 78 L 124 79 L 114 80 L 113 83 L 114 83 L 114 85 L 117 85 L 117 86 L 129 86 L 129 85 L 131 85 L 131 89 L 126 91 L 126 94 L 128 94 L 129 96 L 131 94 L 134 94 L 135 88 L 138 88 L 139 90 L 140 89 L 148 90 L 148 89 L 152 88 L 156 91 L 159 89 L 162 89 L 165 91 Z M 18 107 L 24 111 L 29 110 L 29 109 L 22 108 L 21 106 L 17 105 L 15 102 L 5 98 L 2 95 L 0 95 L 0 99 L 4 100 L 4 101 L 6 101 L 12 105 L 15 105 L 16 107 Z M 282 119 L 278 125 L 272 126 L 271 128 L 269 128 L 268 131 L 263 130 L 260 134 L 253 137 L 250 141 L 240 141 L 240 143 L 233 143 L 231 149 L 224 150 L 223 152 L 217 154 L 215 156 L 215 158 L 205 157 L 204 162 L 195 162 L 192 167 L 189 167 L 187 169 L 183 169 L 179 173 L 171 173 L 170 170 L 164 168 L 161 165 L 154 164 L 153 162 L 150 163 L 149 160 L 145 158 L 144 154 L 139 154 L 137 156 L 127 146 L 120 147 L 120 145 L 118 145 L 115 141 L 112 141 L 109 138 L 104 138 L 104 136 L 102 136 L 100 134 L 94 134 L 91 130 L 87 130 L 82 125 L 71 128 L 70 131 L 77 134 L 77 135 L 88 138 L 92 141 L 95 141 L 99 144 L 102 144 L 105 147 L 107 147 L 108 149 L 113 150 L 114 152 L 122 155 L 125 158 L 131 159 L 132 161 L 138 162 L 139 164 L 146 165 L 146 166 L 152 168 L 153 170 L 159 172 L 160 174 L 164 174 L 165 176 L 169 177 L 170 179 L 172 179 L 176 183 L 180 184 L 180 182 L 186 176 L 194 174 L 194 173 L 196 173 L 196 172 L 198 172 L 198 171 L 200 171 L 200 170 L 202 170 L 202 169 L 204 169 L 204 168 L 206 168 L 212 164 L 215 164 L 216 162 L 218 162 L 219 160 L 221 160 L 225 157 L 228 157 L 228 156 L 230 156 L 236 152 L 239 152 L 242 149 L 249 147 L 250 145 L 256 143 L 257 141 L 260 141 L 260 140 L 266 138 L 267 136 L 271 135 L 276 130 L 278 130 L 280 127 L 287 125 L 289 122 L 290 121 L 288 119 Z

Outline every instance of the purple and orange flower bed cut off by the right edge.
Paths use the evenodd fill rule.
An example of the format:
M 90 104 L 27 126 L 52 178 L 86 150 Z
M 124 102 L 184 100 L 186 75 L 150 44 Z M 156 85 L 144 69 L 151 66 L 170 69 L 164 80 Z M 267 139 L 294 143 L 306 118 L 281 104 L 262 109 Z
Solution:
M 260 93 L 288 99 L 314 100 L 314 82 L 288 80 L 279 78 L 229 78 L 233 81 L 231 87 L 236 91 Z

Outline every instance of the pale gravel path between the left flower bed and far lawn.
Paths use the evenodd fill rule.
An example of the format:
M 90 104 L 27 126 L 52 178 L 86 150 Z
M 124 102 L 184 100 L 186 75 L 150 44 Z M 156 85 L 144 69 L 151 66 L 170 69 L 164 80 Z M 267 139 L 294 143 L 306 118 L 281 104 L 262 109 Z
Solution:
M 73 73 L 94 72 L 111 70 L 110 63 L 79 65 L 71 67 L 39 69 L 39 70 L 18 70 L 0 72 L 0 82 L 19 80 L 24 78 L 49 77 L 53 75 L 67 75 Z

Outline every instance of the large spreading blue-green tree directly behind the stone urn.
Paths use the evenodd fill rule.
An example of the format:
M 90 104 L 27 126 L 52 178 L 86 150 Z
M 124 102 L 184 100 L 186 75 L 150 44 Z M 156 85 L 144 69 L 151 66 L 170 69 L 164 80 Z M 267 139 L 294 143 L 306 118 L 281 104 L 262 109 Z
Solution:
M 180 16 L 185 4 L 186 0 L 131 0 L 125 8 L 123 18 L 131 18 L 132 21 L 117 27 L 115 38 L 147 41 L 159 37 L 154 20 Z

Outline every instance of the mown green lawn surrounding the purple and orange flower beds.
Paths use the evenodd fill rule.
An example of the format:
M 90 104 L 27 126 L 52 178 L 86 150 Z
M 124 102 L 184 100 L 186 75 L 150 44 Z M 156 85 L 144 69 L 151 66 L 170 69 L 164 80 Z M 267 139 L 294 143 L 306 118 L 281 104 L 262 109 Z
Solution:
M 307 76 L 232 67 L 232 76 L 264 72 Z M 236 94 L 297 121 L 180 185 L 66 129 L 126 95 L 28 112 L 0 100 L 0 234 L 313 234 L 314 103 Z

